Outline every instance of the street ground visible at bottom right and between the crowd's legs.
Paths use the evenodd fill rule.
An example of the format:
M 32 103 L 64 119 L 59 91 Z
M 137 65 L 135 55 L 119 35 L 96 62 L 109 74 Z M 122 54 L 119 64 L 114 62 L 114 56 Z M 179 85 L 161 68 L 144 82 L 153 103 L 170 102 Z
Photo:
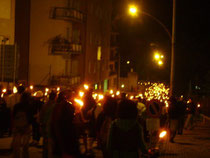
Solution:
M 9 152 L 11 138 L 0 139 L 0 158 L 11 158 Z M 102 158 L 99 150 L 94 150 L 96 158 Z M 30 147 L 30 158 L 41 158 L 42 149 Z M 210 158 L 210 122 L 197 125 L 193 130 L 184 131 L 175 138 L 175 143 L 167 143 L 162 158 Z

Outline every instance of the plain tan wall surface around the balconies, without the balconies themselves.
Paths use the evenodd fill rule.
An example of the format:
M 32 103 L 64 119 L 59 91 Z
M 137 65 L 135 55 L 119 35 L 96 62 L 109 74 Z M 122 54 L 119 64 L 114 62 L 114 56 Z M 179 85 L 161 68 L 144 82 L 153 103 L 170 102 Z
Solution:
M 49 43 L 55 36 L 72 38 L 72 22 L 50 18 L 53 7 L 68 7 L 67 5 L 67 0 L 31 0 L 30 83 L 46 85 L 50 75 L 70 76 L 70 73 L 82 72 L 78 70 L 81 58 L 52 55 L 49 49 Z M 72 61 L 72 58 L 75 60 Z M 74 66 L 73 70 L 71 66 Z

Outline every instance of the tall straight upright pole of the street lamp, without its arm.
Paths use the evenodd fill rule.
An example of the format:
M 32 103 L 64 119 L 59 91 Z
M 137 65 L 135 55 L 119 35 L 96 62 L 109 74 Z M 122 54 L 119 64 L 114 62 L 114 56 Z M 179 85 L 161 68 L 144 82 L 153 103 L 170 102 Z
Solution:
M 170 96 L 174 95 L 174 71 L 175 71 L 175 33 L 176 33 L 176 0 L 173 0 L 172 40 L 171 40 L 171 72 L 170 72 Z

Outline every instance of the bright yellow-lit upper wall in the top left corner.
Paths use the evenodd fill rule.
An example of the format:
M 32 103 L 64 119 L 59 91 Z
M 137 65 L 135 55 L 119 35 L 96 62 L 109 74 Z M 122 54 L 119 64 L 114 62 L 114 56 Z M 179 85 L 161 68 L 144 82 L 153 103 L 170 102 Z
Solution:
M 0 0 L 0 41 L 9 38 L 7 44 L 14 44 L 15 0 Z

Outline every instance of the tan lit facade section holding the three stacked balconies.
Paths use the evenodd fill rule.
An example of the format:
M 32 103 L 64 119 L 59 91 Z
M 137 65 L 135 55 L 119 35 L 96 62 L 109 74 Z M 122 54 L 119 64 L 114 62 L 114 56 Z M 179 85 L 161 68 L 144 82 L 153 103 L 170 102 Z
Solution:
M 31 0 L 29 83 L 76 85 L 83 75 L 85 1 Z

